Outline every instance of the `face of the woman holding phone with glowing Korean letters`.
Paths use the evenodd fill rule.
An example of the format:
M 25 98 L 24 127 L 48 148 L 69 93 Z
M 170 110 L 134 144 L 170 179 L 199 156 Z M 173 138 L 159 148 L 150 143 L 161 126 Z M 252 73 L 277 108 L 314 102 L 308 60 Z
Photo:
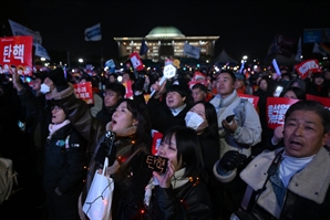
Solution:
M 158 156 L 169 159 L 175 167 L 175 170 L 182 168 L 182 161 L 177 161 L 176 159 L 177 146 L 175 135 L 173 135 L 171 139 L 164 138 L 164 142 L 158 147 Z

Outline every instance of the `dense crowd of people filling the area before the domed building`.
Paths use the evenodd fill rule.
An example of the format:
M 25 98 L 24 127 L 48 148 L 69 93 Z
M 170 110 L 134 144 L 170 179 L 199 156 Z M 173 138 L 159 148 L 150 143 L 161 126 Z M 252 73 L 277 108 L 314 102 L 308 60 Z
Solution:
M 0 154 L 13 160 L 30 213 L 89 219 L 82 206 L 109 157 L 112 219 L 330 219 L 330 112 L 307 98 L 330 97 L 330 70 L 303 80 L 286 66 L 281 74 L 198 72 L 205 81 L 194 85 L 194 71 L 181 69 L 163 84 L 162 73 L 147 70 L 55 67 L 35 71 L 30 83 L 16 70 L 0 74 Z M 84 82 L 93 104 L 75 95 Z M 257 105 L 240 94 L 257 96 Z M 268 97 L 297 99 L 275 129 Z M 156 154 L 168 159 L 165 174 L 141 167 L 154 130 L 163 135 Z

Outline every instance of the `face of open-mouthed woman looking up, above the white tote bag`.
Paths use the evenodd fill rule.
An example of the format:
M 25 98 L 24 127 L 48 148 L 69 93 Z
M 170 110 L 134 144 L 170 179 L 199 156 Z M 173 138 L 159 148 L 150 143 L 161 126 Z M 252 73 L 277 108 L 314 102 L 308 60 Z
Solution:
M 112 115 L 112 132 L 122 130 L 133 125 L 137 125 L 137 121 L 133 118 L 133 114 L 127 108 L 127 103 L 122 102 Z

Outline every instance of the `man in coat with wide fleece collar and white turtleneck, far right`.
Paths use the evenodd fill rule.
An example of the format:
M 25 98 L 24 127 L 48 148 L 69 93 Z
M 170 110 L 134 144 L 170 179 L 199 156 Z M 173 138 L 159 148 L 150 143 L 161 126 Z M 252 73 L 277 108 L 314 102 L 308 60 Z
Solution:
M 329 219 L 330 157 L 323 147 L 329 130 L 323 105 L 292 104 L 285 116 L 283 147 L 265 150 L 239 175 L 248 187 L 244 198 L 238 196 L 243 210 L 235 212 L 236 219 Z M 239 154 L 227 156 L 215 164 L 219 181 L 231 180 L 240 165 Z

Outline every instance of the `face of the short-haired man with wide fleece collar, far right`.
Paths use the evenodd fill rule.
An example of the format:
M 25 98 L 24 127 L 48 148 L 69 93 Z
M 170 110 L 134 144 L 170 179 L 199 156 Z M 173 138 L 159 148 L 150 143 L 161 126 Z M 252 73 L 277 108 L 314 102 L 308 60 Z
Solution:
M 326 144 L 321 118 L 312 111 L 295 111 L 283 129 L 286 154 L 291 157 L 310 157 Z

